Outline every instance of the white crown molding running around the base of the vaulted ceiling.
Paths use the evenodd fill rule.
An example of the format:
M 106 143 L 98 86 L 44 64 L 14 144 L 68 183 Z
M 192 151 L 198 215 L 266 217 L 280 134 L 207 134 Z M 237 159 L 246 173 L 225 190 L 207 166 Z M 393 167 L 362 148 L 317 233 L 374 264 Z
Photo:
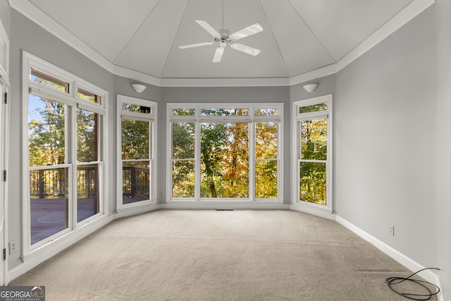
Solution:
M 99 54 L 97 51 L 89 47 L 81 39 L 69 32 L 61 24 L 50 18 L 39 8 L 34 6 L 30 1 L 8 0 L 12 8 L 14 8 L 23 16 L 32 20 L 37 25 L 43 27 L 52 35 L 66 42 L 70 47 L 80 51 L 87 58 L 92 59 L 99 66 L 105 68 L 114 75 L 124 76 L 132 80 L 140 80 L 142 82 L 156 85 L 159 87 L 240 87 L 240 86 L 289 86 L 297 85 L 308 80 L 314 80 L 326 75 L 337 73 L 347 65 L 358 59 L 360 56 L 375 47 L 383 39 L 391 35 L 403 25 L 419 15 L 429 6 L 435 3 L 435 0 L 414 0 L 406 6 L 400 13 L 397 13 L 385 25 L 376 30 L 370 37 L 364 40 L 359 46 L 354 48 L 349 54 L 344 56 L 340 61 L 332 65 L 311 70 L 307 73 L 292 76 L 291 78 L 156 78 L 152 75 L 137 72 L 128 68 L 114 65 Z

